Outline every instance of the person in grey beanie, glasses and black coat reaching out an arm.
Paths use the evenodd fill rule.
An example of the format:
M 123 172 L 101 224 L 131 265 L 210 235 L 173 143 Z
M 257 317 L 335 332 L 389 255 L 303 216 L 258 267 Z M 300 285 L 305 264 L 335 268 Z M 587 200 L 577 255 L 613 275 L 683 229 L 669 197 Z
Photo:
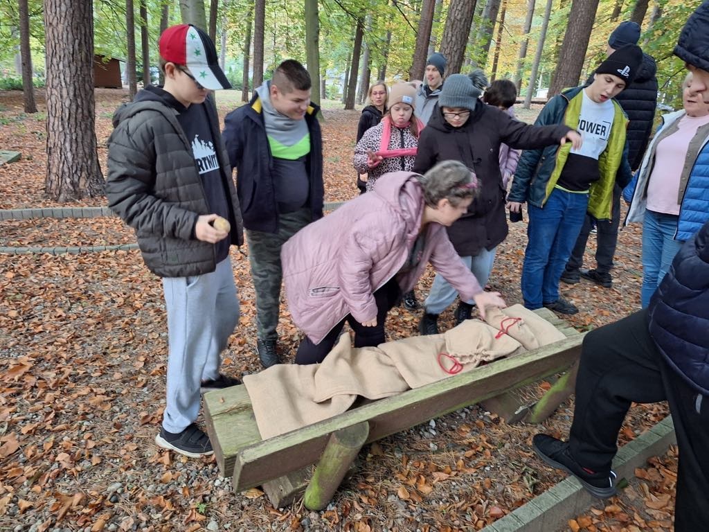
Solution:
M 480 85 L 480 83 L 479 83 Z M 480 195 L 468 211 L 448 228 L 448 237 L 464 264 L 484 286 L 490 277 L 495 251 L 507 236 L 505 189 L 499 165 L 503 143 L 512 148 L 544 148 L 581 136 L 562 124 L 530 126 L 479 100 L 481 88 L 464 74 L 452 74 L 445 82 L 428 126 L 418 143 L 413 171 L 424 173 L 437 162 L 463 162 L 478 176 Z M 436 275 L 420 321 L 422 334 L 438 333 L 438 315 L 456 298 L 456 290 Z M 462 299 L 455 313 L 460 323 L 471 317 L 474 301 Z

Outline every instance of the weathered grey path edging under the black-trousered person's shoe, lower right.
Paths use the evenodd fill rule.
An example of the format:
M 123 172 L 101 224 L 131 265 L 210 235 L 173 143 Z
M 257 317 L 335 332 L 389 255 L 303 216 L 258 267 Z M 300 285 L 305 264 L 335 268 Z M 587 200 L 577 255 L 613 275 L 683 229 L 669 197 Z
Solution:
M 657 423 L 618 450 L 613 470 L 618 478 L 631 478 L 635 468 L 648 458 L 662 455 L 677 443 L 671 416 Z M 540 461 L 540 464 L 542 462 Z M 586 491 L 578 480 L 568 477 L 502 519 L 489 524 L 482 532 L 552 532 L 568 527 L 569 519 L 584 514 L 599 499 Z

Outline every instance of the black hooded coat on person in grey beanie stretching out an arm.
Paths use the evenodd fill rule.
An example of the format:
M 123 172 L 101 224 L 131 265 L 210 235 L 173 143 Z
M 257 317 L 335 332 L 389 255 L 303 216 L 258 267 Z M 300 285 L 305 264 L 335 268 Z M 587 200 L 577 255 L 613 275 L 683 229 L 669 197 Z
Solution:
M 435 107 L 418 139 L 413 172 L 423 174 L 437 162 L 457 160 L 474 170 L 480 187 L 467 214 L 448 228 L 448 236 L 462 257 L 493 249 L 507 237 L 506 190 L 500 174 L 500 145 L 535 150 L 559 143 L 570 128 L 530 126 L 508 113 L 478 101 L 468 121 L 454 128 Z

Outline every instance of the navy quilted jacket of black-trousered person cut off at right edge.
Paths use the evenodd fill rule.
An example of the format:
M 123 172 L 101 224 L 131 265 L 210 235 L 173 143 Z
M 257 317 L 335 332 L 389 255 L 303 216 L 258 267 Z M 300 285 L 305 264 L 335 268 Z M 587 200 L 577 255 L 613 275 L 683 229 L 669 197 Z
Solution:
M 684 243 L 657 287 L 649 331 L 670 367 L 709 396 L 709 222 Z

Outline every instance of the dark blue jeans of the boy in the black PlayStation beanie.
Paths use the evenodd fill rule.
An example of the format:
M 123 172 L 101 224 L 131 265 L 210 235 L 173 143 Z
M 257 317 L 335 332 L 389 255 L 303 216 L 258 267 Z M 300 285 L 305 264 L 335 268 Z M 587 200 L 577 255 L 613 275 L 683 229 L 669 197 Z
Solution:
M 588 209 L 588 194 L 553 189 L 544 208 L 527 204 L 527 250 L 522 266 L 522 297 L 527 309 L 559 299 L 562 277 Z

